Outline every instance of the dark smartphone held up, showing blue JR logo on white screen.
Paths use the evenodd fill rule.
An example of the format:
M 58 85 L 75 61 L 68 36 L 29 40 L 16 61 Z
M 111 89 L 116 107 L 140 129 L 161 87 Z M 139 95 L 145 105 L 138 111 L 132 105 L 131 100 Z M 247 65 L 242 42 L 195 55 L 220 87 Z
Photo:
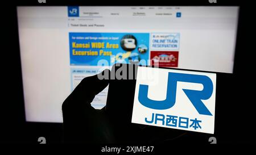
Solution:
M 147 73 L 147 70 L 152 72 Z M 113 119 L 117 120 L 123 131 L 134 126 L 143 129 L 140 133 L 150 135 L 148 140 L 183 143 L 185 139 L 189 143 L 205 143 L 208 142 L 208 137 L 221 133 L 221 129 L 217 129 L 218 125 L 225 127 L 225 123 L 218 120 L 219 116 L 225 116 L 222 111 L 218 112 L 218 106 L 227 99 L 224 92 L 218 89 L 229 85 L 226 80 L 232 74 L 134 64 L 115 64 L 110 74 L 106 111 L 113 114 Z M 145 79 L 142 78 L 143 75 Z M 176 79 L 173 79 L 175 76 Z M 158 79 L 157 82 L 154 78 Z M 148 82 L 148 79 L 152 81 Z M 209 80 L 213 81 L 212 84 L 209 84 Z M 142 85 L 147 89 L 140 90 Z M 168 90 L 168 87 L 171 88 Z M 178 90 L 179 87 L 181 89 Z M 172 93 L 174 89 L 177 90 Z M 143 98 L 139 95 L 146 98 L 145 103 L 141 103 Z M 223 104 L 221 107 L 226 108 Z M 170 116 L 175 119 L 170 121 Z M 190 121 L 195 119 L 201 121 L 197 122 L 197 126 Z M 186 120 L 188 121 L 185 122 Z M 138 135 L 135 133 L 137 130 L 127 132 Z

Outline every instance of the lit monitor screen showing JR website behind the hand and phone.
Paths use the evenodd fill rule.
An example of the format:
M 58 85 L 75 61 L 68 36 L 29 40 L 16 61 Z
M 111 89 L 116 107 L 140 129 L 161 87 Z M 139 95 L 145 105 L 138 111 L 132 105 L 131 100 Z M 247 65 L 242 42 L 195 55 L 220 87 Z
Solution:
M 18 6 L 26 120 L 63 122 L 82 78 L 117 62 L 233 73 L 238 6 Z M 125 88 L 124 88 L 125 89 Z M 94 108 L 106 104 L 108 87 Z

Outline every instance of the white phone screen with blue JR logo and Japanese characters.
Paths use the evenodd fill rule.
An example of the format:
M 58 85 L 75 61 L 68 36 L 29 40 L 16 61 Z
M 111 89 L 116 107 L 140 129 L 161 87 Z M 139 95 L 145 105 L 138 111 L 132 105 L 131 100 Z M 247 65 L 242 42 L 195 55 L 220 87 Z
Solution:
M 214 73 L 139 67 L 132 123 L 214 133 L 215 91 Z

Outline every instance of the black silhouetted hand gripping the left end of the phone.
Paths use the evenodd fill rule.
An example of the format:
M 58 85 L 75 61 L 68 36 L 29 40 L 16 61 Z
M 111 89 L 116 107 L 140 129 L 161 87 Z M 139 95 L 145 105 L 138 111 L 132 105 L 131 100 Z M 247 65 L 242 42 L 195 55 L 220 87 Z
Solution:
M 104 73 L 110 74 L 110 70 L 100 74 Z M 62 105 L 65 143 L 116 142 L 105 107 L 96 110 L 90 105 L 95 95 L 108 84 L 108 79 L 98 79 L 97 75 L 86 77 L 65 99 Z

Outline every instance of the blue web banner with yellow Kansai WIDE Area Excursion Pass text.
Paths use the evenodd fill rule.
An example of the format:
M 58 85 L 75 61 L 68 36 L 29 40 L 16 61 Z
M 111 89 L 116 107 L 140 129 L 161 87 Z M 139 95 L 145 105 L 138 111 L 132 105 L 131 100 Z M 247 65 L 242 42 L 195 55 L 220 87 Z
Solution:
M 149 33 L 69 32 L 70 64 L 97 66 L 105 60 L 147 65 Z M 145 64 L 146 63 L 146 64 Z

